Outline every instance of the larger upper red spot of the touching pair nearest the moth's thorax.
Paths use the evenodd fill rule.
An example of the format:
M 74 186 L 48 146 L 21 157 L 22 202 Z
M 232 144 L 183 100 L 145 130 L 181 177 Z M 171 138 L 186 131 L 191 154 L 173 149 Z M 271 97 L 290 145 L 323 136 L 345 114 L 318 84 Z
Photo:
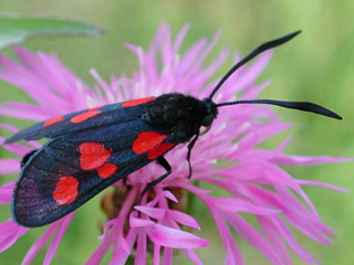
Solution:
M 166 135 L 156 131 L 143 131 L 138 134 L 136 140 L 133 142 L 133 151 L 136 155 L 150 151 L 158 147 L 166 138 Z

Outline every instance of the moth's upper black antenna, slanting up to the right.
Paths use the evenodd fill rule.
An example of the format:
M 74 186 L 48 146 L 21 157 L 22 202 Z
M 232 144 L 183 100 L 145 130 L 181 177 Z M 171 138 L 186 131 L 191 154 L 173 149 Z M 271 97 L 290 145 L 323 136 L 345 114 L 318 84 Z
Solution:
M 238 62 L 237 64 L 235 64 L 232 66 L 232 68 L 226 73 L 226 75 L 219 81 L 219 83 L 216 85 L 216 87 L 214 88 L 214 91 L 211 92 L 209 99 L 211 99 L 214 97 L 214 95 L 217 93 L 217 91 L 220 88 L 220 86 L 230 77 L 230 75 L 232 75 L 239 67 L 241 67 L 243 64 L 248 63 L 249 61 L 251 61 L 253 57 L 256 57 L 258 54 L 279 46 L 288 41 L 290 41 L 291 39 L 293 39 L 295 35 L 298 35 L 299 33 L 301 33 L 301 31 L 295 31 L 291 34 L 284 35 L 282 38 L 266 42 L 263 44 L 261 44 L 260 46 L 258 46 L 257 49 L 253 50 L 253 52 L 251 52 L 250 54 L 248 54 L 246 57 L 243 57 L 240 62 Z

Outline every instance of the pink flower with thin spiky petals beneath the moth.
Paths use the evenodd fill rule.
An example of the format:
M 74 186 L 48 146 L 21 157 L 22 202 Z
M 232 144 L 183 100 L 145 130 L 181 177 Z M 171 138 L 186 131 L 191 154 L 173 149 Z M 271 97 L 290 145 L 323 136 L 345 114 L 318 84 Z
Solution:
M 183 28 L 173 41 L 169 28 L 163 25 L 147 52 L 142 47 L 127 45 L 137 55 L 139 70 L 134 72 L 131 78 L 125 74 L 119 78 L 112 76 L 110 83 L 92 71 L 96 80 L 94 89 L 73 75 L 54 55 L 42 52 L 33 54 L 22 47 L 14 47 L 21 62 L 17 63 L 1 54 L 0 78 L 27 92 L 37 104 L 3 103 L 0 105 L 0 114 L 41 121 L 83 108 L 170 92 L 205 98 L 218 81 L 210 78 L 228 57 L 228 50 L 222 50 L 211 64 L 204 67 L 204 61 L 219 33 L 210 43 L 206 39 L 199 40 L 181 55 L 178 51 L 187 31 L 188 26 Z M 257 97 L 270 84 L 264 82 L 256 85 L 258 75 L 270 57 L 271 52 L 266 52 L 251 66 L 240 68 L 217 93 L 215 100 L 230 102 L 235 95 L 241 99 Z M 235 61 L 239 59 L 239 54 L 236 54 Z M 173 166 L 173 173 L 154 187 L 140 205 L 137 205 L 137 198 L 146 183 L 164 172 L 155 163 L 128 176 L 127 187 L 118 181 L 115 192 L 105 195 L 103 209 L 110 220 L 100 236 L 102 243 L 87 259 L 87 264 L 98 264 L 110 248 L 113 250 L 112 264 L 124 264 L 133 250 L 135 264 L 145 264 L 148 255 L 153 257 L 154 264 L 171 264 L 174 248 L 181 250 L 195 264 L 201 264 L 194 250 L 209 243 L 191 230 L 200 227 L 198 222 L 185 212 L 188 201 L 187 206 L 178 203 L 186 199 L 185 191 L 207 205 L 225 244 L 226 264 L 243 264 L 232 230 L 273 264 L 292 264 L 290 250 L 304 263 L 319 264 L 316 258 L 299 244 L 289 225 L 322 244 L 329 244 L 329 237 L 333 236 L 332 230 L 323 224 L 302 187 L 317 186 L 343 192 L 345 190 L 315 181 L 293 179 L 280 166 L 321 165 L 347 159 L 285 155 L 283 149 L 290 138 L 273 150 L 258 148 L 258 144 L 290 127 L 282 124 L 269 106 L 225 107 L 219 113 L 211 129 L 199 138 L 192 150 L 191 181 L 187 179 L 187 148 L 178 146 L 166 156 Z M 260 123 L 260 118 L 267 119 L 267 123 Z M 1 125 L 1 128 L 10 132 L 18 131 L 9 125 Z M 238 139 L 236 144 L 235 139 Z M 4 138 L 1 137 L 1 146 L 19 158 L 1 159 L 0 173 L 19 172 L 21 158 L 31 148 L 21 144 L 3 145 L 3 141 Z M 33 149 L 40 147 L 35 141 L 29 144 Z M 198 188 L 198 182 L 222 189 L 228 195 L 217 197 L 212 189 Z M 0 188 L 1 204 L 11 202 L 13 187 L 14 182 L 11 182 Z M 259 229 L 253 227 L 240 213 L 252 214 Z M 50 224 L 29 250 L 23 264 L 30 264 L 52 237 L 43 262 L 50 264 L 73 214 Z M 186 230 L 185 226 L 190 229 Z M 29 229 L 13 223 L 11 218 L 1 223 L 0 252 L 9 248 L 28 231 Z M 210 250 L 212 251 L 212 242 Z

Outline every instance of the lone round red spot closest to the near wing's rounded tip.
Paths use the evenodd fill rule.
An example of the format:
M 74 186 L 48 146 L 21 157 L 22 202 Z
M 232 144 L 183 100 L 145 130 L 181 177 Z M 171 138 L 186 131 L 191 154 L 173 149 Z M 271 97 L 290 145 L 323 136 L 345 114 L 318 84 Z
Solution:
M 72 203 L 79 194 L 77 187 L 79 181 L 73 176 L 61 177 L 52 197 L 59 205 Z

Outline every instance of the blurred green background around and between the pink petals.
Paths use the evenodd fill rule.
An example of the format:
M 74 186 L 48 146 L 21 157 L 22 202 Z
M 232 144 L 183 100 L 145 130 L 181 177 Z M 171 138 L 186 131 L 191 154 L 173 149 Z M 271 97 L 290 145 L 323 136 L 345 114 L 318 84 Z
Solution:
M 267 71 L 259 81 L 272 78 L 272 85 L 262 94 L 264 98 L 310 100 L 322 104 L 344 117 L 343 121 L 315 115 L 277 108 L 285 123 L 292 123 L 290 130 L 268 142 L 272 148 L 290 134 L 293 139 L 285 149 L 295 155 L 354 156 L 353 66 L 354 66 L 354 1 L 339 0 L 219 0 L 219 1 L 163 1 L 163 0 L 61 0 L 61 1 L 4 1 L 0 0 L 1 12 L 17 12 L 40 15 L 64 15 L 81 18 L 104 28 L 106 33 L 97 38 L 35 38 L 24 46 L 32 51 L 54 52 L 62 62 L 88 84 L 88 74 L 95 67 L 103 77 L 122 71 L 131 73 L 137 67 L 135 56 L 124 49 L 124 43 L 148 47 L 158 24 L 164 21 L 177 33 L 186 23 L 191 24 L 183 50 L 201 36 L 212 36 L 221 29 L 222 35 L 210 55 L 215 59 L 220 49 L 229 45 L 241 54 L 256 45 L 302 29 L 303 33 L 289 44 L 277 49 Z M 4 50 L 11 54 L 11 50 Z M 221 75 L 230 66 L 218 72 Z M 0 82 L 0 102 L 29 100 L 18 89 Z M 1 118 L 1 123 L 9 119 Z M 13 121 L 11 121 L 13 124 Z M 21 127 L 25 127 L 24 124 Z M 8 156 L 1 149 L 1 157 Z M 353 163 L 326 165 L 321 167 L 289 168 L 300 179 L 325 181 L 354 190 Z M 0 184 L 15 177 L 1 177 Z M 322 264 L 353 264 L 354 197 L 319 188 L 305 188 L 317 206 L 324 223 L 332 226 L 337 237 L 332 245 L 320 245 L 296 233 L 302 244 L 313 252 Z M 98 245 L 97 222 L 103 220 L 97 203 L 90 201 L 75 215 L 69 232 L 54 256 L 53 264 L 83 264 Z M 201 236 L 212 243 L 198 251 L 205 264 L 223 263 L 223 246 L 220 243 L 211 218 L 205 218 L 200 205 L 196 219 L 202 227 Z M 0 221 L 7 220 L 9 208 L 0 209 Z M 20 264 L 31 244 L 43 232 L 37 229 L 25 234 L 10 250 L 0 254 L 0 264 Z M 267 264 L 266 258 L 242 240 L 238 243 L 246 264 Z M 33 264 L 41 264 L 41 252 Z M 176 259 L 185 264 L 184 255 Z M 106 258 L 103 264 L 108 263 Z M 302 264 L 294 258 L 295 264 Z

